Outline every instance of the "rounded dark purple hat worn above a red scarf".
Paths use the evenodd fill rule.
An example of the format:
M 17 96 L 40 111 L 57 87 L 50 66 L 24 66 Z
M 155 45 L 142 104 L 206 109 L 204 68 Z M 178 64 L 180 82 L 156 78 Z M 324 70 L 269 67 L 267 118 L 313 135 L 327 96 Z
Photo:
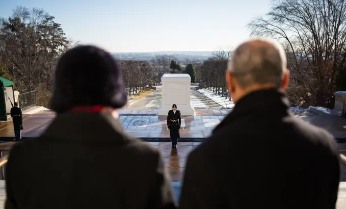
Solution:
M 117 109 L 126 100 L 120 65 L 107 51 L 91 45 L 77 46 L 58 61 L 50 104 L 57 113 L 76 106 Z

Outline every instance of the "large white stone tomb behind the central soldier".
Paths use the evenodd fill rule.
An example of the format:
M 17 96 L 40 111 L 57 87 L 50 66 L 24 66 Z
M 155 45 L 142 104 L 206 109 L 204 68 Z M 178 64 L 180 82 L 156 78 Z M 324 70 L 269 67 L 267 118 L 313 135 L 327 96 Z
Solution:
M 191 106 L 189 74 L 164 74 L 162 81 L 162 99 L 158 107 L 158 116 L 167 116 L 172 105 L 176 104 L 181 115 L 194 115 L 195 109 Z

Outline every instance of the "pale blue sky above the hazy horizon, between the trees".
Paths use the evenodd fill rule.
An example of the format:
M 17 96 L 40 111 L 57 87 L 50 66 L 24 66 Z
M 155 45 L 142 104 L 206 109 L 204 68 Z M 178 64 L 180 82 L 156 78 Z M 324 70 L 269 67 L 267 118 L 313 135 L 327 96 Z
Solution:
M 16 6 L 44 9 L 68 38 L 112 52 L 203 51 L 249 37 L 246 24 L 270 0 L 0 0 L 0 17 Z

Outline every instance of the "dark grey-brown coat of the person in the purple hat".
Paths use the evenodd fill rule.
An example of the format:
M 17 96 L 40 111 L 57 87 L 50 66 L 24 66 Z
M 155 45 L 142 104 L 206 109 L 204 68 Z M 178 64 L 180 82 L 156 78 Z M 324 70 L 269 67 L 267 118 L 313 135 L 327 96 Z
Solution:
M 6 208 L 175 208 L 161 152 L 127 136 L 110 114 L 58 115 L 18 143 L 6 170 Z

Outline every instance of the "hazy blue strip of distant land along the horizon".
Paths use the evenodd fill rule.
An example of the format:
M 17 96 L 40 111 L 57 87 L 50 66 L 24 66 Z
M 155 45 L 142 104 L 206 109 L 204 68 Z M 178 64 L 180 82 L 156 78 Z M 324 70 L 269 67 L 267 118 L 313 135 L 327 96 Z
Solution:
M 139 53 L 111 53 L 119 60 L 145 60 L 149 61 L 156 56 L 168 55 L 174 56 L 180 61 L 189 60 L 206 60 L 212 56 L 212 51 L 155 51 Z

